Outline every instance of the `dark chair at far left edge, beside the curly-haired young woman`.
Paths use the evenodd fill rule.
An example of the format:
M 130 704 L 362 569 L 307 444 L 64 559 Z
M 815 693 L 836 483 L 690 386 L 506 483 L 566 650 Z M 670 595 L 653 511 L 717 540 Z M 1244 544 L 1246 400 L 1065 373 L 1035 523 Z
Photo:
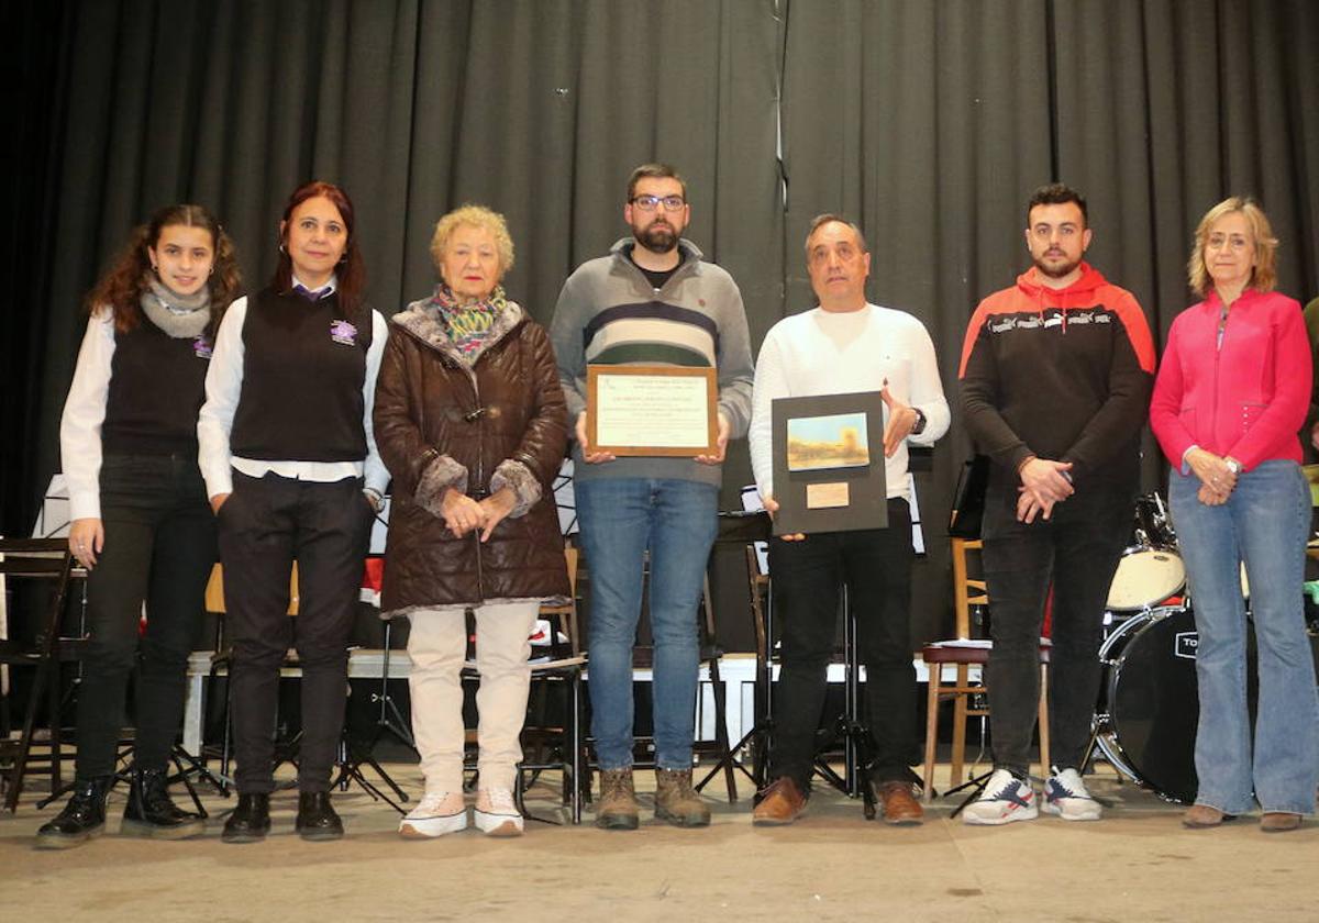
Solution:
M 73 574 L 73 555 L 69 554 L 69 542 L 63 538 L 37 539 L 37 538 L 9 538 L 0 539 L 0 614 L 4 613 L 4 600 L 7 599 L 5 580 L 9 578 L 34 578 L 47 580 L 53 584 L 50 599 L 45 613 L 38 624 L 36 640 L 25 643 L 17 638 L 0 637 L 0 666 L 26 666 L 34 669 L 32 688 L 28 694 L 28 704 L 22 715 L 22 729 L 15 738 L 8 733 L 0 738 L 0 761 L 8 763 L 4 774 L 5 799 L 4 807 L 9 812 L 18 810 L 18 796 L 22 794 L 24 777 L 29 771 L 29 762 L 33 759 L 33 740 L 36 733 L 37 712 L 42 707 L 42 699 L 49 711 L 49 753 L 42 754 L 47 761 L 50 774 L 50 790 L 55 791 L 61 783 L 61 721 L 59 721 L 59 658 L 61 638 L 59 622 L 65 612 L 65 599 L 69 593 L 69 583 Z M 5 622 L 0 620 L 0 628 Z M 8 636 L 8 630 L 0 632 Z M 4 683 L 3 699 L 8 707 L 9 675 L 0 676 Z M 8 728 L 5 728 L 8 732 Z

